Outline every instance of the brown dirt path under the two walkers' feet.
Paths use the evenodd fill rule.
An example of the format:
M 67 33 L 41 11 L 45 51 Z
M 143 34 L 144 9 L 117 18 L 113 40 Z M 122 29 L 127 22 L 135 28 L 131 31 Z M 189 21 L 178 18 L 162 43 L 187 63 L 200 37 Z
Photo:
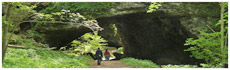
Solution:
M 97 61 L 91 63 L 89 68 L 131 68 L 129 66 L 125 66 L 121 61 L 102 61 L 101 65 L 97 65 Z

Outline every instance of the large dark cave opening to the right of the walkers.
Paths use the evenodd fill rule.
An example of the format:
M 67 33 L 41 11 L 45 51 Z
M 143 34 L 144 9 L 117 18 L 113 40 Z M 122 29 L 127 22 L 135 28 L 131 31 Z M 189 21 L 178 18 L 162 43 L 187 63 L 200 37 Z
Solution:
M 126 57 L 149 59 L 157 64 L 194 64 L 190 53 L 184 51 L 188 48 L 185 40 L 193 35 L 181 25 L 180 18 L 163 12 L 139 12 L 97 21 L 100 26 L 116 24 Z

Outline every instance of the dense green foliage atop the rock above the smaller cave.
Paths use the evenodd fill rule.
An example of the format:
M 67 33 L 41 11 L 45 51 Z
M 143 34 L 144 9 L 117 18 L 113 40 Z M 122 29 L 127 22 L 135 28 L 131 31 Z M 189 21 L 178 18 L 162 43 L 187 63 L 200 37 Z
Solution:
M 79 12 L 84 16 L 98 16 L 108 14 L 106 11 L 116 5 L 115 2 L 54 2 L 40 12 L 50 14 L 62 9 L 69 9 L 72 12 Z

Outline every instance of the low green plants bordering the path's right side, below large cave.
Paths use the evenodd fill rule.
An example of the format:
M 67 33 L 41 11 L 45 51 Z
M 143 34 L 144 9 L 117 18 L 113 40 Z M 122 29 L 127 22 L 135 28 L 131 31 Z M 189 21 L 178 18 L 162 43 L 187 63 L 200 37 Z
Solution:
M 132 67 L 140 67 L 140 68 L 160 68 L 159 65 L 151 62 L 150 60 L 139 60 L 134 58 L 123 58 L 121 59 L 122 63 Z

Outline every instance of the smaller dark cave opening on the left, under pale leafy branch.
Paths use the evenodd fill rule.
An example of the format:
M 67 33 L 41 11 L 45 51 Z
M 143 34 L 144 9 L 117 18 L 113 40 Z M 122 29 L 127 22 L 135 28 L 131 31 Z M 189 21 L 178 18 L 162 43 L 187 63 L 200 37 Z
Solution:
M 21 31 L 26 31 L 33 27 L 34 23 L 22 23 Z M 68 45 L 74 39 L 82 36 L 87 32 L 92 32 L 89 28 L 79 24 L 61 24 L 51 23 L 41 25 L 36 29 L 40 36 L 35 37 L 35 40 L 48 44 L 50 47 L 60 47 Z

